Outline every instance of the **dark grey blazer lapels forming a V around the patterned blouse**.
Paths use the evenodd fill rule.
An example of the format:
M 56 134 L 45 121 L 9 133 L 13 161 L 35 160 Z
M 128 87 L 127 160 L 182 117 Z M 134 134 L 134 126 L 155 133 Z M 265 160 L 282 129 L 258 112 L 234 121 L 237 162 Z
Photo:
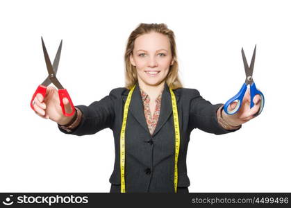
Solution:
M 129 93 L 129 90 L 127 90 L 122 95 L 124 103 L 126 102 L 128 93 Z M 175 94 L 175 96 L 176 96 L 176 103 L 178 103 L 179 96 L 178 94 Z M 133 116 L 138 121 L 138 123 L 140 123 L 140 125 L 142 125 L 142 127 L 147 132 L 149 132 L 149 128 L 147 127 L 147 121 L 144 116 L 144 105 L 142 103 L 142 96 L 140 95 L 140 87 L 138 84 L 133 90 L 133 95 L 131 96 L 131 104 L 129 105 L 129 111 L 131 112 L 131 114 L 133 114 Z M 158 123 L 151 137 L 154 137 L 156 133 L 160 130 L 160 128 L 162 128 L 163 125 L 165 125 L 166 121 L 169 119 L 169 116 L 172 114 L 172 112 L 173 110 L 172 110 L 171 93 L 169 92 L 169 87 L 167 83 L 165 83 L 165 87 L 162 93 L 162 100 L 160 104 L 160 116 L 158 116 Z M 122 116 L 123 116 L 123 112 L 122 112 Z

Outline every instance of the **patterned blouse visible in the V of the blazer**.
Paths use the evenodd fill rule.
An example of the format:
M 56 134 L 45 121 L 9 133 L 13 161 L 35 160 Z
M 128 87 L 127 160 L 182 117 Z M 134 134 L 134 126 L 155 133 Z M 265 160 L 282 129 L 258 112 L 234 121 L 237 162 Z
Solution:
M 160 101 L 162 100 L 162 92 L 158 98 L 156 98 L 156 107 L 153 116 L 151 116 L 151 110 L 149 108 L 149 95 L 144 92 L 142 88 L 140 88 L 140 94 L 142 95 L 142 103 L 144 103 L 144 116 L 147 121 L 147 127 L 149 128 L 150 134 L 153 135 L 153 131 L 158 123 L 158 116 L 160 116 Z

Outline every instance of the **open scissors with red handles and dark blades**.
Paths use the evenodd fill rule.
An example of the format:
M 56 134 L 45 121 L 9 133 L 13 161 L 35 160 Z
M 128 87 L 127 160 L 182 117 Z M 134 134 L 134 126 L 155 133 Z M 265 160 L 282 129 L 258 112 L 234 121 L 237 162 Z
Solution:
M 34 110 L 33 101 L 35 99 L 35 96 L 38 93 L 40 93 L 40 94 L 42 94 L 43 97 L 45 97 L 45 95 L 47 93 L 47 86 L 49 86 L 51 83 L 53 83 L 53 85 L 55 85 L 58 88 L 58 97 L 60 98 L 60 107 L 62 107 L 63 114 L 65 116 L 72 116 L 75 113 L 75 107 L 72 103 L 71 98 L 69 97 L 67 89 L 64 89 L 64 87 L 60 84 L 60 82 L 56 78 L 56 73 L 58 71 L 58 63 L 60 62 L 60 51 L 62 51 L 62 44 L 63 44 L 63 40 L 60 42 L 60 46 L 58 46 L 58 52 L 56 53 L 56 57 L 53 60 L 53 65 L 51 65 L 51 60 L 49 60 L 49 55 L 48 55 L 47 49 L 44 45 L 44 40 L 42 39 L 42 49 L 44 51 L 44 60 L 45 60 L 45 63 L 47 64 L 47 71 L 49 73 L 49 76 L 47 76 L 47 78 L 44 80 L 44 82 L 38 86 L 38 89 L 36 89 L 35 93 L 33 94 L 33 98 L 31 99 L 31 108 Z M 67 113 L 65 111 L 63 98 L 68 99 L 69 105 L 72 108 L 71 113 Z

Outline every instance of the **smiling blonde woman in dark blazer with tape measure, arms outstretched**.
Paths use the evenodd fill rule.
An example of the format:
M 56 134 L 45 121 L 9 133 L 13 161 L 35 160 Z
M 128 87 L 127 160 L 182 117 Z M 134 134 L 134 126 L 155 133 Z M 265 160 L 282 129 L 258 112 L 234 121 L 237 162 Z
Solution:
M 76 106 L 74 116 L 63 116 L 58 92 L 49 87 L 45 99 L 40 94 L 35 98 L 35 112 L 56 121 L 66 134 L 113 130 L 110 192 L 188 193 L 190 132 L 199 128 L 220 135 L 238 130 L 258 112 L 260 97 L 255 96 L 256 105 L 249 109 L 247 94 L 240 111 L 228 115 L 222 104 L 212 105 L 197 89 L 183 88 L 174 33 L 165 24 L 140 24 L 128 38 L 124 59 L 126 87 L 113 89 L 89 106 Z M 66 98 L 63 102 L 68 104 Z

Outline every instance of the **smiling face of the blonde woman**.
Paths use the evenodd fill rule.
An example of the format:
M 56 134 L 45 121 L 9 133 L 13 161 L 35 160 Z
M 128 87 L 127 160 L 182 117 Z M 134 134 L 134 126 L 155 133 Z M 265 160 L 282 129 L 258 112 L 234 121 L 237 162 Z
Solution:
M 161 85 L 174 63 L 169 39 L 156 32 L 140 35 L 135 39 L 130 60 L 137 69 L 140 85 Z

